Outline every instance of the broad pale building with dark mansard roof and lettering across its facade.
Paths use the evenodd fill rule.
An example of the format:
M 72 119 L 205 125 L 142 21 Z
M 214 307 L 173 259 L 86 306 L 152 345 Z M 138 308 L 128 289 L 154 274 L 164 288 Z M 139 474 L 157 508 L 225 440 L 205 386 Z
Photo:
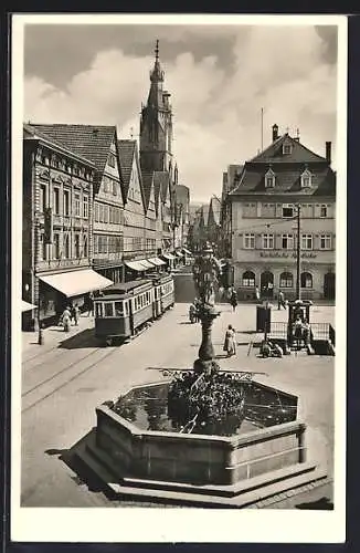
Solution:
M 234 285 L 253 298 L 335 298 L 336 174 L 331 143 L 321 157 L 273 126 L 273 143 L 245 163 L 231 202 Z M 299 209 L 299 211 L 298 211 Z M 297 282 L 299 213 L 300 282 Z

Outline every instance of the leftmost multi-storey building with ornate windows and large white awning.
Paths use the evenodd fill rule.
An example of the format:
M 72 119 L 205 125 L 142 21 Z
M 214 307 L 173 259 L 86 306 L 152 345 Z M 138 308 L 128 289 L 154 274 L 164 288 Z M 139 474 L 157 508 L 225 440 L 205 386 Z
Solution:
M 91 269 L 94 177 L 91 160 L 23 126 L 22 296 L 38 306 L 23 314 L 27 328 L 110 284 Z

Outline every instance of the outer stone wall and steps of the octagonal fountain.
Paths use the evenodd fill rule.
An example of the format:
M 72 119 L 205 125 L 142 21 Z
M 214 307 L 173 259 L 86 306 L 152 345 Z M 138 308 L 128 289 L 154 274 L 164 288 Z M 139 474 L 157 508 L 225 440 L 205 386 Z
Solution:
M 76 453 L 121 498 L 240 508 L 326 478 L 298 420 L 224 437 L 139 429 L 106 405 L 96 415 Z

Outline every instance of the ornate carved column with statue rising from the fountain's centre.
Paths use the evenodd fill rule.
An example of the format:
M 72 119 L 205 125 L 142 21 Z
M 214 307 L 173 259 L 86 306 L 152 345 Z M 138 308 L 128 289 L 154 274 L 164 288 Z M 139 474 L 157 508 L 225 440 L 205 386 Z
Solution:
M 221 274 L 221 265 L 213 255 L 209 242 L 205 243 L 201 254 L 193 265 L 193 278 L 200 301 L 199 317 L 201 321 L 202 342 L 199 348 L 199 358 L 193 364 L 195 373 L 211 372 L 214 368 L 214 348 L 211 331 L 214 319 L 220 315 L 215 309 L 215 286 Z

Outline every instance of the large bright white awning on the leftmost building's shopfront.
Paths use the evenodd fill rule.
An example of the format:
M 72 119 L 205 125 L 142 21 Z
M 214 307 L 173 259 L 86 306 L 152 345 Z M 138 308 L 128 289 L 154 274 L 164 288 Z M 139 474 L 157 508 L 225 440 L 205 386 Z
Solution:
M 93 292 L 94 290 L 103 290 L 114 284 L 112 280 L 105 279 L 105 276 L 93 271 L 93 269 L 49 274 L 39 276 L 39 279 L 55 290 L 59 290 L 59 292 L 67 298 Z

